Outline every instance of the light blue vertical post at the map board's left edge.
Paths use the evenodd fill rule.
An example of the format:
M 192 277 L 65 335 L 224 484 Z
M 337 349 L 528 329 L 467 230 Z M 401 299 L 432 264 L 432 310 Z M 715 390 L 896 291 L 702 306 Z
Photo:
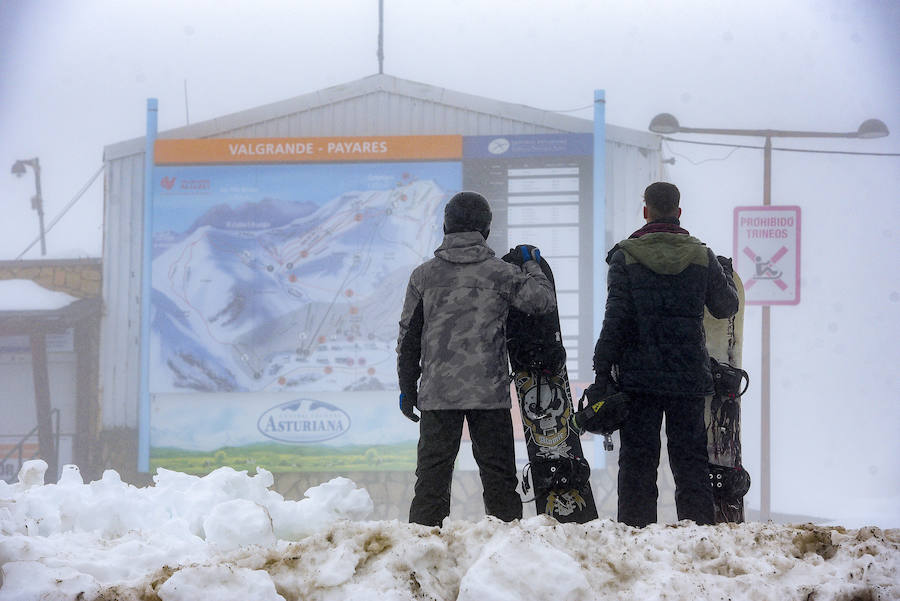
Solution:
M 144 236 L 141 268 L 141 360 L 138 399 L 138 471 L 150 471 L 150 269 L 153 260 L 153 146 L 159 102 L 147 99 L 144 147 Z

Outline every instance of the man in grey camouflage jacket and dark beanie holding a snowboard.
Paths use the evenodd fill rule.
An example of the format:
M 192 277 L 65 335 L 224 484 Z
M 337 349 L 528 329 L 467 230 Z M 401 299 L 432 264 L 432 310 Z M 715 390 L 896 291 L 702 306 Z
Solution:
M 485 242 L 490 224 L 491 210 L 483 196 L 455 195 L 444 211 L 445 235 L 435 258 L 419 265 L 409 278 L 397 372 L 401 410 L 413 421 L 419 421 L 413 407 L 421 413 L 410 522 L 440 526 L 450 514 L 463 419 L 484 487 L 485 512 L 505 521 L 522 517 L 506 317 L 510 306 L 549 313 L 556 308 L 556 297 L 538 262 L 529 260 L 537 256 L 529 253 L 522 267 L 494 256 Z

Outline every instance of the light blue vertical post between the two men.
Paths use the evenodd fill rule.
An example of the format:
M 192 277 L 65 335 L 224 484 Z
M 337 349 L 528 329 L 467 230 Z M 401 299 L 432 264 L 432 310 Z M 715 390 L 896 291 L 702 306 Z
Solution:
M 593 340 L 600 337 L 606 308 L 606 91 L 594 90 L 594 248 L 593 261 Z M 593 349 L 593 345 L 591 345 Z M 606 467 L 606 454 L 600 436 L 594 439 L 592 468 Z

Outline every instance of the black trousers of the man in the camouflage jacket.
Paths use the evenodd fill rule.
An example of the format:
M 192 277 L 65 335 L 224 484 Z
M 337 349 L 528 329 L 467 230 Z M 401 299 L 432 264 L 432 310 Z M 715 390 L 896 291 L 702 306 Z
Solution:
M 421 412 L 410 522 L 440 526 L 450 515 L 450 485 L 463 419 L 469 424 L 472 455 L 484 487 L 485 513 L 505 522 L 522 517 L 509 409 L 439 410 Z

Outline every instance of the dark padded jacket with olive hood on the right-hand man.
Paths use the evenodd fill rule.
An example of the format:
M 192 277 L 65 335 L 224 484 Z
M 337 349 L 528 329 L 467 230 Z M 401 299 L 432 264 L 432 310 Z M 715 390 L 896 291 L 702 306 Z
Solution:
M 703 307 L 722 319 L 738 310 L 731 274 L 676 220 L 652 222 L 607 256 L 608 296 L 594 349 L 598 379 L 617 367 L 627 392 L 703 396 L 712 375 Z

